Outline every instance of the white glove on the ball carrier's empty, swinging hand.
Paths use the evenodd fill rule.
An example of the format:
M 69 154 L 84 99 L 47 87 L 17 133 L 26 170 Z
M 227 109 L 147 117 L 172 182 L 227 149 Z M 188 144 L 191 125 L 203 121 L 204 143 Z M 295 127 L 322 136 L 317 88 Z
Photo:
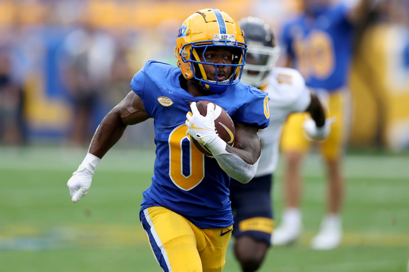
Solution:
M 82 164 L 72 173 L 72 177 L 67 181 L 72 202 L 76 203 L 81 197 L 88 194 L 88 189 L 91 187 L 92 176 L 100 160 L 98 157 L 88 153 Z

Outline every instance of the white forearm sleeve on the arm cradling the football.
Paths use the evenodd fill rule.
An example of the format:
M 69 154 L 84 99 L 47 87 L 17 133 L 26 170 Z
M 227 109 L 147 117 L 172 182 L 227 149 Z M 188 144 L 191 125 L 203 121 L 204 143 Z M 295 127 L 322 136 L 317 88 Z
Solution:
M 214 158 L 227 175 L 241 183 L 249 182 L 256 175 L 258 159 L 260 159 L 259 157 L 255 164 L 247 164 L 242 158 L 226 150 L 218 155 L 214 155 Z

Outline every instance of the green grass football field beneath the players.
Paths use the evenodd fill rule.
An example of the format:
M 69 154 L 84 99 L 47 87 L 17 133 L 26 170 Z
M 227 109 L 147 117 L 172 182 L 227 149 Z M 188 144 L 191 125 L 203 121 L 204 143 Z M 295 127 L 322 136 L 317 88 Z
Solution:
M 113 148 L 89 194 L 72 203 L 66 186 L 86 150 L 0 148 L 0 271 L 160 271 L 139 222 L 154 152 Z M 280 221 L 282 170 L 274 206 Z M 409 260 L 409 156 L 348 155 L 342 245 L 310 250 L 325 204 L 318 157 L 304 164 L 299 243 L 271 248 L 260 272 L 402 272 Z M 225 272 L 239 272 L 233 251 Z

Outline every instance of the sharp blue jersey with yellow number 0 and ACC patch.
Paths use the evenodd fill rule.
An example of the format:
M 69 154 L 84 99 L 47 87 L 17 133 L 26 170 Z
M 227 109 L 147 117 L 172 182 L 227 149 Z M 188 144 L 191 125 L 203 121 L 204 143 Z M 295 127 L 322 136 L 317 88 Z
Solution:
M 180 86 L 176 66 L 148 61 L 130 83 L 154 119 L 156 159 L 152 184 L 143 192 L 142 210 L 162 206 L 199 228 L 233 224 L 230 177 L 186 135 L 190 102 L 208 100 L 224 108 L 234 123 L 265 128 L 270 122 L 267 94 L 238 82 L 220 94 L 193 97 Z M 266 108 L 267 106 L 267 108 Z

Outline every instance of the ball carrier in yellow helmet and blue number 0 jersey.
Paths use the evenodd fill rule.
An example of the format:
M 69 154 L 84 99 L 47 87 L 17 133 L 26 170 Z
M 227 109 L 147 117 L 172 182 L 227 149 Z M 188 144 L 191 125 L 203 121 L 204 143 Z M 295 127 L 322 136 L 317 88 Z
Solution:
M 230 177 L 243 183 L 253 178 L 261 153 L 257 130 L 270 121 L 267 95 L 240 82 L 247 50 L 243 35 L 236 20 L 218 9 L 189 16 L 176 37 L 178 66 L 146 62 L 130 82 L 132 91 L 102 120 L 67 183 L 72 201 L 79 201 L 126 127 L 153 118 L 154 175 L 139 218 L 163 271 L 216 272 L 225 265 L 233 225 Z M 229 113 L 234 147 L 218 137 L 212 103 L 207 115 L 200 115 L 200 100 Z M 200 153 L 192 137 L 213 156 Z

